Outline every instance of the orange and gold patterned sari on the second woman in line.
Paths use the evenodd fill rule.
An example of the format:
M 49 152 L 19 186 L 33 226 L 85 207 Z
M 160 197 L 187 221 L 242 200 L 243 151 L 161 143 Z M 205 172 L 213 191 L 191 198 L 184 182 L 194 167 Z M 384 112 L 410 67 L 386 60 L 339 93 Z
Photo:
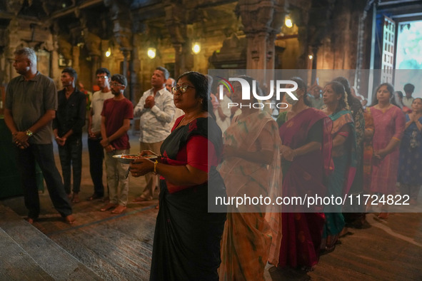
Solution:
M 244 196 L 281 196 L 277 124 L 268 113 L 260 111 L 233 119 L 224 133 L 224 144 L 244 151 L 255 151 L 263 130 L 268 130 L 273 145 L 270 165 L 252 163 L 243 158 L 224 159 L 218 169 L 227 188 L 228 198 Z M 281 242 L 281 214 L 277 205 L 228 205 L 227 221 L 221 240 L 220 280 L 263 280 L 267 260 L 276 264 Z

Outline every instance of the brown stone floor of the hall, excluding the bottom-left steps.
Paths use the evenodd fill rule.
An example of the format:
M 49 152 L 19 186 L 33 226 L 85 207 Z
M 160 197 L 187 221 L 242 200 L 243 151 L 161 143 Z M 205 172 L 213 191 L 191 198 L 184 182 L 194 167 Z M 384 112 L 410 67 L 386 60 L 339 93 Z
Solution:
M 86 200 L 93 190 L 84 144 L 81 202 L 73 204 L 76 223 L 63 223 L 48 194 L 41 193 L 40 219 L 33 227 L 29 226 L 40 230 L 73 256 L 79 262 L 75 265 L 79 270 L 86 267 L 84 270 L 94 272 L 94 275 L 86 273 L 83 279 L 99 276 L 104 280 L 148 280 L 157 200 L 132 203 L 131 200 L 141 193 L 144 180 L 131 178 L 126 212 L 121 215 L 101 212 L 99 209 L 104 204 L 101 200 Z M 131 144 L 132 153 L 139 151 L 134 136 L 131 136 Z M 8 198 L 1 204 L 14 210 L 16 220 L 27 225 L 23 220 L 26 209 L 22 197 Z M 422 214 L 392 213 L 388 220 L 379 220 L 376 215 L 368 214 L 367 221 L 363 229 L 350 229 L 334 252 L 321 257 L 313 272 L 269 267 L 266 280 L 422 280 Z M 4 259 L 4 255 L 0 257 Z M 11 263 L 9 268 L 13 266 Z M 0 273 L 1 268 L 4 267 L 0 267 Z M 32 279 L 49 280 L 43 272 Z

